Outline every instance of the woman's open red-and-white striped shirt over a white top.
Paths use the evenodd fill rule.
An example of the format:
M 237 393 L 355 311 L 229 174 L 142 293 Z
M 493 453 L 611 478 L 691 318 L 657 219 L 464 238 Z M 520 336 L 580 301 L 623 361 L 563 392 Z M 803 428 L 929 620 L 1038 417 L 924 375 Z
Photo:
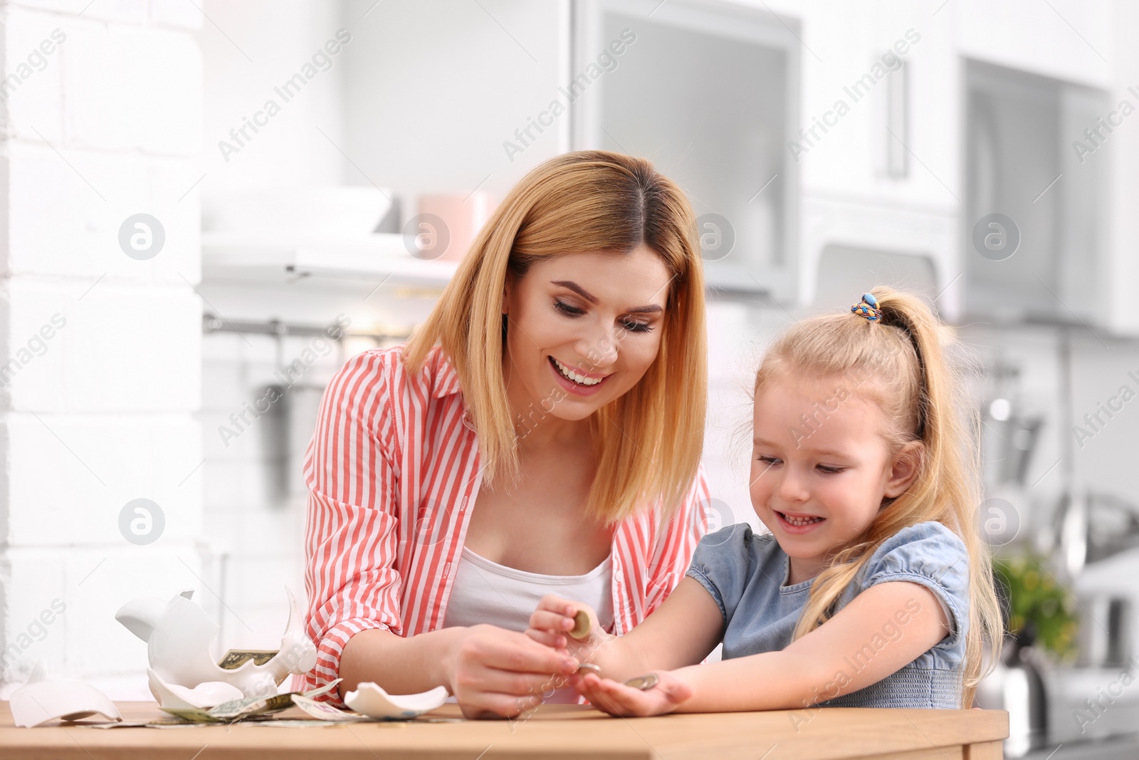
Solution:
M 325 391 L 305 456 L 309 688 L 337 677 L 349 638 L 443 626 L 482 471 L 458 375 L 433 349 L 418 375 L 402 346 L 364 351 Z M 613 632 L 637 626 L 677 587 L 707 530 L 700 468 L 664 525 L 648 508 L 615 526 Z

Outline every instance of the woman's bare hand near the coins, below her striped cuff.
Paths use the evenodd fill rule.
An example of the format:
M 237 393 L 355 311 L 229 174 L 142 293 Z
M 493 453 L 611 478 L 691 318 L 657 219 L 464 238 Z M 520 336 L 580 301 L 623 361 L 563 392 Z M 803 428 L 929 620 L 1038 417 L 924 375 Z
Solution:
M 566 685 L 577 661 L 524 634 L 472 626 L 449 647 L 444 668 L 464 717 L 513 718 L 541 704 L 543 692 Z

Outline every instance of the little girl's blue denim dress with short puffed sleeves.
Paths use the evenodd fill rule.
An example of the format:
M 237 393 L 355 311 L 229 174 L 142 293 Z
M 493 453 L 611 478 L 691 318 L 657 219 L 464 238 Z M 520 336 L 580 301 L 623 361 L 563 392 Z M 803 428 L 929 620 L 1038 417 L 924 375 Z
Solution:
M 687 575 L 707 589 L 723 614 L 723 659 L 778 652 L 792 634 L 811 590 L 811 580 L 786 586 L 790 563 L 771 534 L 756 534 L 751 525 L 729 525 L 700 539 Z M 870 557 L 838 599 L 842 608 L 875 583 L 909 581 L 925 586 L 945 605 L 950 634 L 933 648 L 877 684 L 827 698 L 855 672 L 866 668 L 887 641 L 904 636 L 906 623 L 920 606 L 907 603 L 880 635 L 851 643 L 842 670 L 820 685 L 817 700 L 830 708 L 947 708 L 961 706 L 965 636 L 969 624 L 969 558 L 965 544 L 937 522 L 899 531 Z

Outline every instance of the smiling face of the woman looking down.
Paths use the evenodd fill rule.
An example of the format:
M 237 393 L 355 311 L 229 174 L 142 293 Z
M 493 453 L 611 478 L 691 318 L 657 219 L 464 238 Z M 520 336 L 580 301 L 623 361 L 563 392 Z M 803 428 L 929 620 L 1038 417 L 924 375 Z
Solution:
M 514 412 L 580 420 L 626 393 L 656 359 L 671 279 L 644 244 L 544 259 L 509 276 L 502 368 Z

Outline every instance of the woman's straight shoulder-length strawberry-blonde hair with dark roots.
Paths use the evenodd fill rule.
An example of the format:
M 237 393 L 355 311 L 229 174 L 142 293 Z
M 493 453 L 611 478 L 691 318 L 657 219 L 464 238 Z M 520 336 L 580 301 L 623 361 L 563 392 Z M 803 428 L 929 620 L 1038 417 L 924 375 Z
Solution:
M 527 173 L 475 238 L 405 348 L 412 371 L 434 345 L 446 352 L 478 432 L 487 483 L 519 475 L 518 435 L 502 376 L 507 273 L 522 277 L 538 261 L 576 252 L 622 255 L 640 244 L 661 256 L 672 276 L 661 348 L 640 382 L 590 419 L 598 466 L 587 508 L 615 523 L 646 504 L 661 504 L 670 514 L 683 500 L 699 466 L 707 398 L 696 218 L 680 188 L 648 161 L 605 150 L 567 153 Z

